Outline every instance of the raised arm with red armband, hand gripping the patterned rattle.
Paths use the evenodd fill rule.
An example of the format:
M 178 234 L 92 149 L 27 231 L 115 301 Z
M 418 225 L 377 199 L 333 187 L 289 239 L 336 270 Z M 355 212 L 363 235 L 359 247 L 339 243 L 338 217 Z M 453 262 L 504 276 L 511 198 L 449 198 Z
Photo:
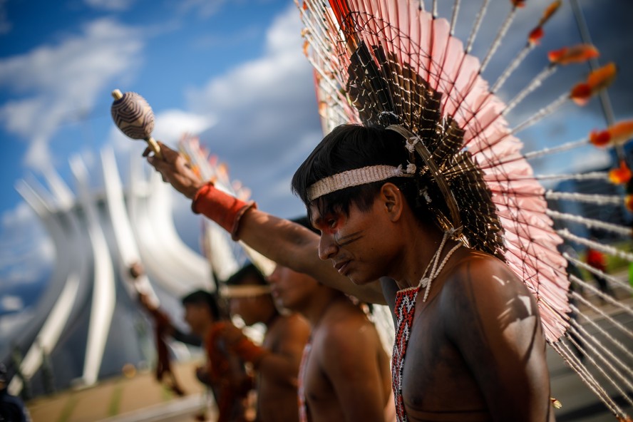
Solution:
M 160 143 L 163 160 L 148 157 L 148 163 L 163 175 L 178 192 L 193 200 L 192 210 L 200 212 L 225 228 L 234 239 L 245 242 L 274 262 L 309 274 L 319 282 L 359 298 L 363 302 L 385 304 L 378 282 L 358 287 L 341 276 L 330 262 L 317 253 L 319 236 L 301 225 L 257 210 L 212 184 L 200 180 L 185 158 Z M 150 150 L 145 150 L 148 156 Z

